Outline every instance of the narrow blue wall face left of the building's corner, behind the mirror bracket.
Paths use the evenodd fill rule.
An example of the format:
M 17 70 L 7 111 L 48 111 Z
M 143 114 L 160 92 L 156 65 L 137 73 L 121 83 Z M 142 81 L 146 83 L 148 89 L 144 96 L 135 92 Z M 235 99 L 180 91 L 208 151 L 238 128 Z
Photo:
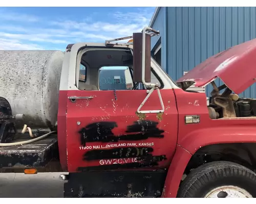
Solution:
M 157 17 L 152 25 L 152 28 L 157 30 L 157 31 L 160 31 L 160 35 L 159 36 L 154 36 L 151 38 L 151 49 L 154 49 L 154 47 L 156 46 L 156 44 L 158 43 L 158 40 L 160 39 L 161 40 L 161 44 L 162 44 L 162 47 L 161 47 L 161 56 L 166 56 L 167 54 L 167 51 L 166 51 L 166 48 L 167 48 L 167 38 L 166 38 L 166 10 L 167 8 L 166 7 L 161 7 L 159 9 L 159 12 L 157 14 Z M 166 70 L 166 57 L 161 57 L 161 65 L 162 65 L 162 68 L 164 70 Z

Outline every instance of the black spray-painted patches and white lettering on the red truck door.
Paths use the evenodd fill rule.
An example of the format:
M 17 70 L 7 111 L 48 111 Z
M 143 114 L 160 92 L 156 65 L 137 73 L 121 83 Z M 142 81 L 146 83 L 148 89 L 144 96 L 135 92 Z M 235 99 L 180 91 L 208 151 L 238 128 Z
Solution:
M 153 156 L 154 142 L 130 142 L 146 140 L 148 138 L 163 138 L 163 130 L 158 129 L 158 122 L 139 120 L 127 126 L 126 134 L 114 135 L 112 130 L 117 127 L 116 122 L 95 122 L 83 127 L 79 133 L 81 146 L 84 150 L 84 161 L 98 161 L 100 167 L 94 168 L 135 168 L 143 166 L 157 166 L 159 161 L 166 160 L 165 155 Z M 121 142 L 127 141 L 127 142 Z M 129 141 L 129 142 L 128 142 Z M 106 144 L 94 145 L 91 143 Z

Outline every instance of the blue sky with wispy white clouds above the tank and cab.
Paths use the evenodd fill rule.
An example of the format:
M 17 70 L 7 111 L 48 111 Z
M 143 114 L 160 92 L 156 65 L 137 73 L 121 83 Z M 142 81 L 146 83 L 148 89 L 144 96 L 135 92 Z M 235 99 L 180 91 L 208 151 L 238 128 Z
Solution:
M 65 50 L 141 32 L 155 7 L 1 7 L 0 49 Z

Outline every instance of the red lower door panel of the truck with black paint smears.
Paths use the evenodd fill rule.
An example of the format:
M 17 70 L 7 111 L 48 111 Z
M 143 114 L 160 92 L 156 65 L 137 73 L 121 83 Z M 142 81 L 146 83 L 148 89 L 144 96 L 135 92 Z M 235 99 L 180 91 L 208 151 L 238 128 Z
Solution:
M 139 114 L 146 90 L 68 91 L 69 172 L 168 167 L 177 143 L 178 112 L 173 89 L 160 93 L 164 113 Z M 160 109 L 154 90 L 141 110 Z

